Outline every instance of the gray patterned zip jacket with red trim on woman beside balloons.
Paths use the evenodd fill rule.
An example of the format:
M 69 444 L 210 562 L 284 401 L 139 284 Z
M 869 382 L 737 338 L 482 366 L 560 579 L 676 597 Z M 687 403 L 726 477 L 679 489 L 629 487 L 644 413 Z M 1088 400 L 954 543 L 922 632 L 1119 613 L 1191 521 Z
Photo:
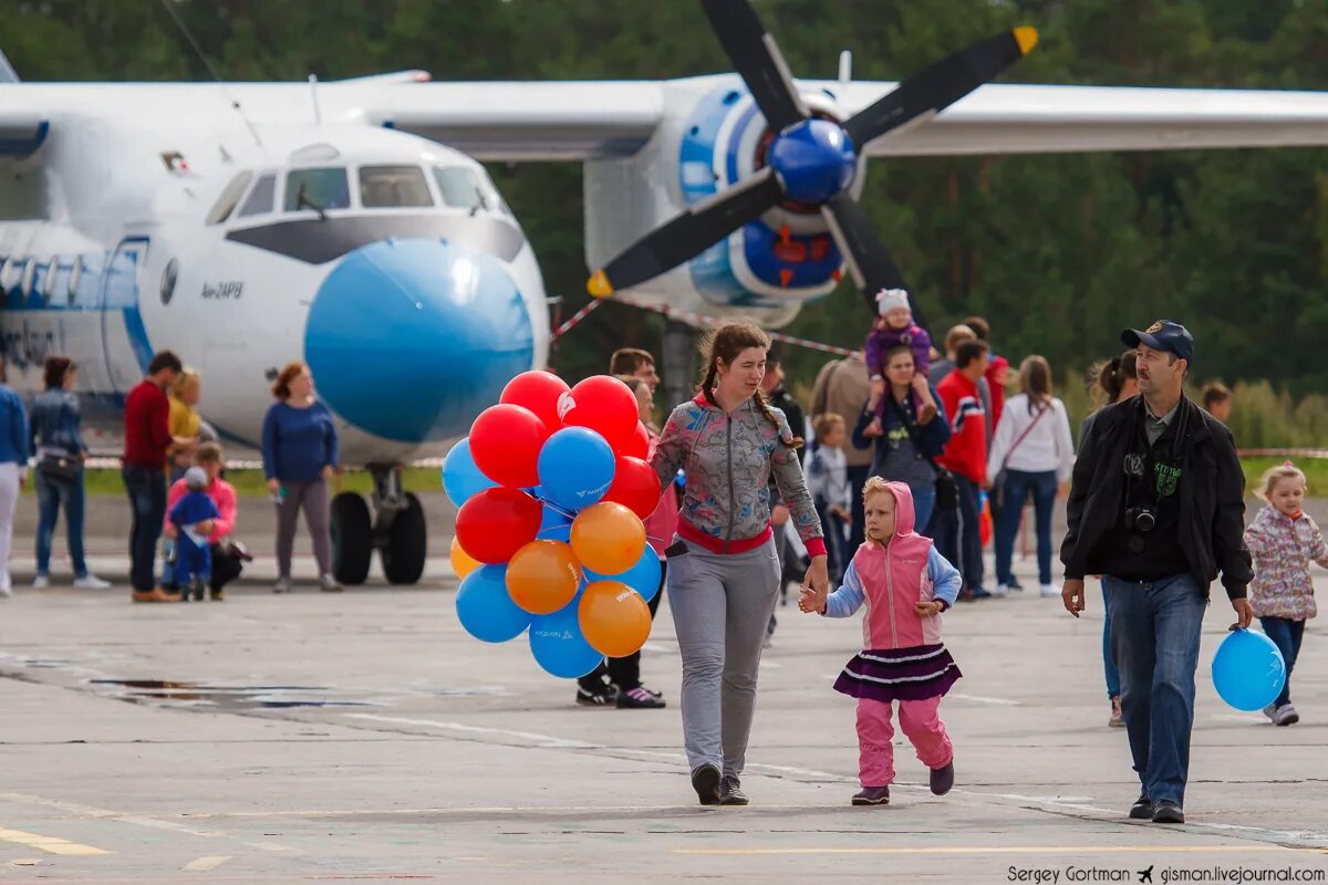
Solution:
M 660 486 L 687 471 L 687 494 L 677 533 L 714 553 L 745 553 L 765 544 L 770 528 L 770 474 L 793 513 L 793 524 L 811 556 L 825 556 L 817 508 L 802 479 L 789 419 L 772 407 L 778 429 L 748 399 L 732 414 L 697 394 L 673 410 L 651 466 Z

